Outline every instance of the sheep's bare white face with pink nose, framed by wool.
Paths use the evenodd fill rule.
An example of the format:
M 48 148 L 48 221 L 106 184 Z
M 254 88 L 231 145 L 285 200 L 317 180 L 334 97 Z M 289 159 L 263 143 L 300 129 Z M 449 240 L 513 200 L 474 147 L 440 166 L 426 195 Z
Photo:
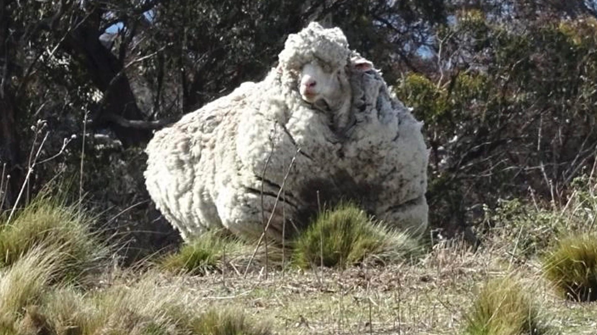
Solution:
M 307 103 L 319 109 L 334 109 L 350 94 L 350 86 L 343 67 L 332 69 L 317 61 L 304 64 L 298 91 Z

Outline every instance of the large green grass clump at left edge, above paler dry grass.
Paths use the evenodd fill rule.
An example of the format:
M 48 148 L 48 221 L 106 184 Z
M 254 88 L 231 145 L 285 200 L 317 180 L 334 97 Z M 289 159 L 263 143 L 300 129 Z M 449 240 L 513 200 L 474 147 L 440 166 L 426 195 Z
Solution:
M 64 275 L 79 278 L 108 251 L 90 232 L 92 222 L 76 207 L 41 195 L 11 222 L 0 223 L 0 267 L 13 264 L 33 248 L 44 247 L 66 255 Z

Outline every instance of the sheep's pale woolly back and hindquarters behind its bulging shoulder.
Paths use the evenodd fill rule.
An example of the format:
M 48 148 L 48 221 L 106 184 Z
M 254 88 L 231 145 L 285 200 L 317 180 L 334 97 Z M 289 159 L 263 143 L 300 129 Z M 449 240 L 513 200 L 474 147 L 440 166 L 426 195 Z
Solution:
M 228 96 L 184 115 L 156 132 L 147 145 L 147 191 L 184 239 L 222 227 L 215 202 L 220 186 L 235 174 L 238 114 L 255 85 L 244 83 Z

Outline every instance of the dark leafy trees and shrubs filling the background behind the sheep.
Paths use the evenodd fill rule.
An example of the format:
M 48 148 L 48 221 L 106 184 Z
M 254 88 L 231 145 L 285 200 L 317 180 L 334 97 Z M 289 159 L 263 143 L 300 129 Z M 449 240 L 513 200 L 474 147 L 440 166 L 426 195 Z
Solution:
M 134 237 L 131 257 L 176 236 L 144 202 L 141 150 L 152 129 L 261 79 L 288 33 L 312 20 L 341 27 L 425 121 L 430 221 L 447 235 L 529 189 L 565 201 L 571 180 L 594 161 L 595 2 L 4 0 L 0 7 L 0 168 L 7 164 L 0 209 L 14 204 L 47 133 L 42 158 L 61 155 L 37 166 L 27 188 L 35 193 L 56 176 L 81 173 L 90 206 Z M 35 140 L 38 119 L 47 127 Z M 72 140 L 60 150 L 65 139 Z

